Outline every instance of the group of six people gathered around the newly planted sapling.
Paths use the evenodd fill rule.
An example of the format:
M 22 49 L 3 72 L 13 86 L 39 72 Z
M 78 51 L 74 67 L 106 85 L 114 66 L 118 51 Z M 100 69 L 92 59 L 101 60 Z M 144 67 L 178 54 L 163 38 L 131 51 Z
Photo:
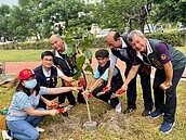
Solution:
M 163 116 L 160 131 L 169 132 L 175 123 L 176 86 L 186 66 L 186 56 L 172 46 L 156 39 L 147 39 L 140 30 L 132 30 L 128 37 L 110 30 L 106 37 L 110 48 L 95 52 L 97 68 L 89 87 L 82 92 L 82 87 L 69 86 L 75 81 L 68 62 L 76 60 L 68 58 L 64 51 L 68 48 L 58 35 L 52 35 L 50 43 L 53 52 L 41 54 L 41 66 L 19 72 L 19 84 L 13 97 L 6 117 L 8 135 L 17 139 L 38 139 L 38 124 L 45 115 L 56 115 L 57 110 L 46 110 L 52 106 L 53 99 L 64 103 L 67 98 L 70 107 L 76 104 L 71 91 L 78 91 L 77 101 L 85 103 L 90 94 L 108 103 L 116 112 L 121 112 L 121 103 L 117 92 L 127 91 L 128 106 L 124 114 L 136 110 L 136 74 L 141 76 L 143 89 L 144 111 L 142 116 L 157 118 Z M 117 59 L 125 62 L 125 80 L 116 66 Z M 54 65 L 53 65 L 54 64 Z M 150 68 L 156 67 L 154 79 L 155 107 L 151 98 Z M 72 66 L 70 66 L 72 67 Z M 74 71 L 72 71 L 74 72 Z M 56 88 L 57 78 L 62 79 L 62 87 Z M 79 79 L 84 79 L 82 75 Z

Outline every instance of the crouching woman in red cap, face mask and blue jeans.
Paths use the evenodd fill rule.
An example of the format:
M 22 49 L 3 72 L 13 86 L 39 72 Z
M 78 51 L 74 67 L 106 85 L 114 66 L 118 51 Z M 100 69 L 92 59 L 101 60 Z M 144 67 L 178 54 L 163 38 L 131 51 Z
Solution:
M 19 72 L 19 84 L 13 97 L 6 116 L 8 135 L 19 140 L 36 140 L 39 132 L 36 129 L 44 116 L 58 114 L 57 110 L 37 109 L 42 94 L 57 94 L 67 91 L 78 91 L 77 87 L 45 88 L 40 87 L 36 74 L 28 68 Z

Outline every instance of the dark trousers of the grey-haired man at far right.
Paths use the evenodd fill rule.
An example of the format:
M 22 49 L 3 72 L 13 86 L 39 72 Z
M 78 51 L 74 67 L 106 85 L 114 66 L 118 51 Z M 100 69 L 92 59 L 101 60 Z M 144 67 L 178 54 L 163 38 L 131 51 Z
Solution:
M 185 67 L 173 72 L 172 86 L 167 89 L 165 92 L 159 87 L 165 81 L 164 71 L 156 71 L 154 80 L 155 107 L 156 111 L 164 112 L 164 122 L 173 123 L 175 120 L 176 87 L 182 77 L 184 68 Z

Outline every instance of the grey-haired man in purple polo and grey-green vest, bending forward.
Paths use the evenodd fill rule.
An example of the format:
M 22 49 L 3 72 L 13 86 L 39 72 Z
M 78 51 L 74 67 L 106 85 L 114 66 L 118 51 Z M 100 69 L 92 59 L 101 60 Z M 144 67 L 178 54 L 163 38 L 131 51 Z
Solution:
M 176 87 L 186 66 L 186 56 L 161 40 L 147 39 L 141 30 L 131 31 L 128 41 L 136 53 L 134 65 L 121 89 L 128 90 L 128 85 L 135 77 L 141 64 L 156 67 L 154 80 L 156 110 L 151 113 L 151 118 L 164 114 L 160 131 L 169 132 L 175 123 Z

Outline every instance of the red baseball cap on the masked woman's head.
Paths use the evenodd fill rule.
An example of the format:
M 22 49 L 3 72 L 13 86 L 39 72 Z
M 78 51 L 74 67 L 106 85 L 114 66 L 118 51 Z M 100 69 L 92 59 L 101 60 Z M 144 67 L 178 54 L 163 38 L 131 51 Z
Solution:
M 36 74 L 31 69 L 25 68 L 25 69 L 19 72 L 18 79 L 24 80 L 24 79 L 27 79 L 31 76 L 36 76 Z

